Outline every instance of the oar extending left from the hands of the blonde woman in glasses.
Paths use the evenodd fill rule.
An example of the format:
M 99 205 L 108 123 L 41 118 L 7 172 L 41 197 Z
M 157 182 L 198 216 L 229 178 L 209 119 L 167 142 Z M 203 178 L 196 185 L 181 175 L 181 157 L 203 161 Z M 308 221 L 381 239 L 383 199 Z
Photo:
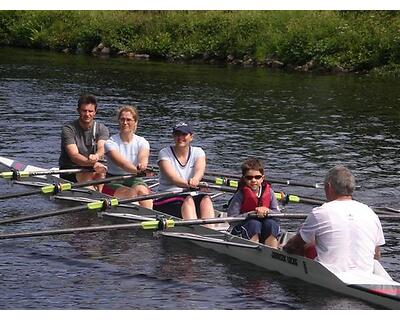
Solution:
M 116 180 L 126 180 L 129 178 L 135 177 L 135 176 L 136 176 L 135 174 L 128 174 L 128 175 L 123 175 L 123 176 L 115 176 L 115 177 L 110 177 L 110 178 L 105 178 L 105 179 L 90 180 L 90 181 L 79 182 L 79 183 L 66 182 L 66 183 L 48 184 L 48 185 L 41 187 L 40 189 L 24 191 L 24 192 L 19 192 L 19 193 L 3 194 L 3 195 L 0 195 L 0 200 L 16 198 L 16 197 L 26 197 L 26 196 L 31 196 L 34 194 L 56 194 L 61 191 L 71 190 L 72 188 L 95 186 L 98 184 L 103 184 L 103 183 L 116 181 Z

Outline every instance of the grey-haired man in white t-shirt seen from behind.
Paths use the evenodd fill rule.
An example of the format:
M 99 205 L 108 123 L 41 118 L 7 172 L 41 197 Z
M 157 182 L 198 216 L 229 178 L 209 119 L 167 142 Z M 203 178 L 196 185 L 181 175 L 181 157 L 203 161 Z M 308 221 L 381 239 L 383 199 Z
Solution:
M 349 169 L 335 166 L 325 177 L 328 202 L 314 208 L 288 241 L 284 250 L 302 254 L 315 245 L 316 260 L 333 272 L 373 271 L 385 244 L 378 216 L 367 205 L 352 199 L 355 179 Z

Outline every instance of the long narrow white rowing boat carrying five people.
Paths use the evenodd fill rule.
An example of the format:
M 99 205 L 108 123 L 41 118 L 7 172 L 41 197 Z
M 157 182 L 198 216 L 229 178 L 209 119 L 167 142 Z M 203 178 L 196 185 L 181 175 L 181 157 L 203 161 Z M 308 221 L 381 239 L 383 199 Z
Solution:
M 44 170 L 34 166 L 25 166 L 4 157 L 0 157 L 0 169 L 1 166 L 18 170 Z M 33 183 L 60 181 L 57 175 L 35 176 L 29 180 L 32 180 Z M 61 201 L 87 202 L 105 197 L 105 195 L 96 191 L 80 188 L 65 191 L 62 195 L 55 195 L 54 198 Z M 159 219 L 164 214 L 134 204 L 126 204 L 113 208 L 112 212 L 102 212 L 102 215 L 123 219 L 148 220 Z M 171 217 L 167 216 L 167 218 Z M 201 225 L 185 225 L 173 229 L 159 230 L 156 234 L 166 239 L 190 241 L 198 246 L 226 254 L 269 271 L 276 271 L 285 276 L 355 297 L 376 306 L 400 309 L 400 283 L 394 281 L 377 260 L 374 261 L 373 274 L 359 272 L 335 274 L 318 261 L 287 254 L 282 250 L 231 235 L 224 230 L 213 230 Z M 280 239 L 281 245 L 285 243 L 289 235 L 290 233 L 284 234 Z

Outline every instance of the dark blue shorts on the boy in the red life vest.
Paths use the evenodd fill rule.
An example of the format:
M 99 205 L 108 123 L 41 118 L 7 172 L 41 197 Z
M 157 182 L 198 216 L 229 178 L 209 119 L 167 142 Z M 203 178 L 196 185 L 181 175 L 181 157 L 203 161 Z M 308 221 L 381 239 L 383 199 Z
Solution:
M 264 243 L 270 235 L 278 238 L 281 233 L 280 229 L 279 221 L 276 219 L 250 218 L 235 226 L 232 229 L 232 234 L 245 239 L 251 239 L 254 235 L 258 234 L 260 242 Z

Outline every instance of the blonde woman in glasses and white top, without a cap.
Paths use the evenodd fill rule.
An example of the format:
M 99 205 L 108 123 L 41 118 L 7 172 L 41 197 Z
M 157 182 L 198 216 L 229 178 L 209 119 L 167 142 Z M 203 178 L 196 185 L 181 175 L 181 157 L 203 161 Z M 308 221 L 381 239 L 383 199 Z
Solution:
M 133 106 L 123 106 L 118 112 L 119 133 L 111 136 L 105 144 L 109 176 L 137 174 L 147 168 L 150 145 L 147 140 L 136 135 L 139 115 Z M 146 183 L 138 177 L 124 180 L 121 183 L 109 183 L 103 192 L 117 198 L 132 198 L 147 195 L 151 191 Z M 153 208 L 152 200 L 139 202 L 141 206 Z

